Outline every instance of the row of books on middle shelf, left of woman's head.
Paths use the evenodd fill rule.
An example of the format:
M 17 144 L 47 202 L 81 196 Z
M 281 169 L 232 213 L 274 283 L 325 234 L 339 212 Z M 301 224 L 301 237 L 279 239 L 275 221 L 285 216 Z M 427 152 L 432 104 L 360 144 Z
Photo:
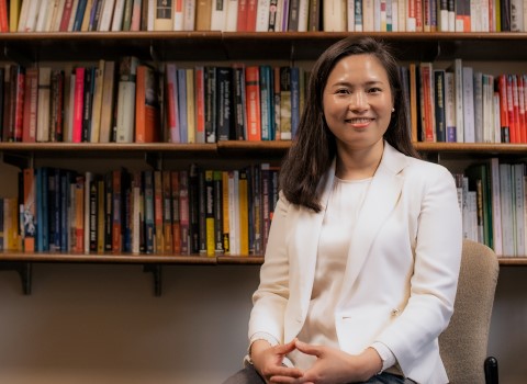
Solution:
M 157 70 L 133 56 L 72 69 L 8 64 L 0 67 L 2 142 L 288 140 L 305 76 L 269 65 Z

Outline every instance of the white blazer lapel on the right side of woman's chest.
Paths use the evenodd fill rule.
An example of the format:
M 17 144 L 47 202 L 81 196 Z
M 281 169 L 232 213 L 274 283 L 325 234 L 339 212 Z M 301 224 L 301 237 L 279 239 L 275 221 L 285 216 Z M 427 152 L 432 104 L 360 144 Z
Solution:
M 346 295 L 359 274 L 382 224 L 392 213 L 401 194 L 403 179 L 399 174 L 406 157 L 384 143 L 381 163 L 371 180 L 368 194 L 350 236 L 348 262 L 341 295 Z

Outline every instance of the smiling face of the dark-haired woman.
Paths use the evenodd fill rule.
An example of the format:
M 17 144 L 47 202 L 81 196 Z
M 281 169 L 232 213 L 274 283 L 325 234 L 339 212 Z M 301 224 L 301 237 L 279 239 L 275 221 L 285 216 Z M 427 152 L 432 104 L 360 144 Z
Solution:
M 393 98 L 379 59 L 368 54 L 341 58 L 327 79 L 323 108 L 338 146 L 366 149 L 382 144 Z

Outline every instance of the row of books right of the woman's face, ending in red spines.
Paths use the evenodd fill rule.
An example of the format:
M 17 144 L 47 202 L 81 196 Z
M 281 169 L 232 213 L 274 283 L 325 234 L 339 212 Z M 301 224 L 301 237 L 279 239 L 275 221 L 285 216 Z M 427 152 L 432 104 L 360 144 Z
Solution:
M 493 76 L 455 59 L 410 64 L 402 76 L 414 140 L 527 143 L 527 75 Z

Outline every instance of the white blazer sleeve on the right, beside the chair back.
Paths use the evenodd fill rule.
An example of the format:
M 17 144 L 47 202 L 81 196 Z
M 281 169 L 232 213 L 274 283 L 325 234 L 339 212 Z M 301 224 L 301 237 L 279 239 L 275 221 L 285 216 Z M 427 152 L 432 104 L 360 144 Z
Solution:
M 453 312 L 461 261 L 461 213 L 455 180 L 446 168 L 429 167 L 416 172 L 413 191 L 406 190 L 421 202 L 410 298 L 377 338 L 392 350 L 405 373 L 438 348 L 437 338 Z

